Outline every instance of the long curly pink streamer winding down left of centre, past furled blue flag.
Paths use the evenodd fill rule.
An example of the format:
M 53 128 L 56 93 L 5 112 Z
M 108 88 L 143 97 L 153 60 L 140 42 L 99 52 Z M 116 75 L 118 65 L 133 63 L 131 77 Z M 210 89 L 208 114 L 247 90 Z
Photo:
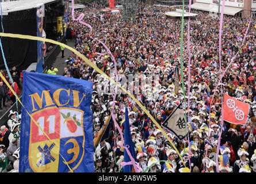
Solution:
M 85 17 L 85 14 L 81 13 L 77 19 L 74 18 L 74 0 L 72 0 L 72 19 L 73 19 L 74 21 L 79 21 L 79 23 L 81 23 L 81 24 L 86 25 L 87 27 L 89 27 L 89 28 L 90 28 L 89 36 L 91 37 L 91 32 L 92 32 L 93 28 L 91 27 L 91 25 L 89 25 L 89 24 L 87 24 L 86 22 L 83 22 L 83 21 L 82 21 L 83 17 Z M 93 37 L 91 37 L 91 38 L 93 39 Z M 112 55 L 110 49 L 109 49 L 102 41 L 100 41 L 100 40 L 98 40 L 98 39 L 95 39 L 95 40 L 97 40 L 98 42 L 100 42 L 100 43 L 105 47 L 105 49 L 109 52 L 110 56 L 112 57 L 112 60 L 113 60 L 113 62 L 114 62 L 114 72 L 115 72 L 115 75 L 116 75 L 116 82 L 118 82 L 118 75 L 117 75 L 117 69 L 116 69 L 116 61 L 115 61 L 115 59 L 114 59 L 114 56 Z M 97 54 L 99 54 L 99 53 L 97 53 Z M 100 55 L 104 55 L 104 54 L 100 53 Z M 115 105 L 115 104 L 114 104 L 114 99 L 116 98 L 116 94 L 117 94 L 117 86 L 116 86 L 116 89 L 115 89 L 115 93 L 114 93 L 114 95 L 113 95 L 113 105 L 112 105 L 111 115 L 112 115 L 112 119 L 113 119 L 113 121 L 114 121 L 114 124 L 116 125 L 116 127 L 117 127 L 117 129 L 118 129 L 118 131 L 119 131 L 119 133 L 120 133 L 120 135 L 121 135 L 121 140 L 122 140 L 123 143 L 124 143 L 123 133 L 122 133 L 122 131 L 121 131 L 121 128 L 119 127 L 119 125 L 118 125 L 117 122 L 116 122 L 116 118 L 114 117 L 114 112 L 113 112 L 114 105 Z M 135 172 L 136 172 L 136 173 L 140 173 L 139 163 L 137 163 L 137 162 L 135 161 L 135 159 L 133 159 L 133 157 L 132 157 L 132 155 L 131 155 L 131 152 L 129 152 L 129 150 L 128 150 L 128 148 L 127 148 L 126 146 L 121 145 L 121 147 L 123 147 L 125 150 L 127 150 L 127 154 L 129 155 L 129 158 L 131 159 L 131 162 L 123 163 L 122 165 L 124 165 L 124 164 L 133 164 L 133 168 L 135 169 Z

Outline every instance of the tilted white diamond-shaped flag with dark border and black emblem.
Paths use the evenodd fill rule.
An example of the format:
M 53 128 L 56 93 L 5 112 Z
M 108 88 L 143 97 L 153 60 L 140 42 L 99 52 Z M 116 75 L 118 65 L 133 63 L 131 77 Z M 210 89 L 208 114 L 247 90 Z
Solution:
M 176 109 L 166 118 L 162 123 L 162 127 L 165 127 L 169 131 L 173 132 L 179 140 L 183 140 L 187 135 L 188 131 L 186 130 L 185 125 L 185 114 L 184 110 L 179 104 Z

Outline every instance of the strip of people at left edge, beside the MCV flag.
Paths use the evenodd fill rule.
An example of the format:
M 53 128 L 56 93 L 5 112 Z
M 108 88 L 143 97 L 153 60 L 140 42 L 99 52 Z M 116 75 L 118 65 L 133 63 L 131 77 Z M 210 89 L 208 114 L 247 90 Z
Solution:
M 22 71 L 18 71 L 17 68 L 13 66 L 9 72 L 6 70 L 0 70 L 0 72 L 15 93 L 19 95 L 23 82 Z M 8 73 L 12 75 L 12 80 Z M 15 95 L 1 78 L 0 110 L 6 112 L 7 108 L 15 103 Z M 3 122 L 2 120 L 0 125 L 0 173 L 18 173 L 21 115 L 17 112 L 13 112 L 13 110 L 10 110 L 10 112 L 7 111 L 7 113 L 9 113 L 7 122 Z

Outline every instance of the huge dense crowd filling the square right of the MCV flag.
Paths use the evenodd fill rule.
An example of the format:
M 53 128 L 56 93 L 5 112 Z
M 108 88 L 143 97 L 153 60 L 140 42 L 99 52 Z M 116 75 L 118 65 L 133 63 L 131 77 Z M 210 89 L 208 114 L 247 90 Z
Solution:
M 175 67 L 181 67 L 181 18 L 170 18 L 164 14 L 166 11 L 175 11 L 177 7 L 148 6 L 140 3 L 135 20 L 131 22 L 124 21 L 122 10 L 120 14 L 112 15 L 110 12 L 101 11 L 104 7 L 100 3 L 93 3 L 85 9 L 75 10 L 75 17 L 81 13 L 86 14 L 83 21 L 91 25 L 91 33 L 89 28 L 70 17 L 69 26 L 75 33 L 75 49 L 109 76 L 114 71 L 115 63 L 119 79 L 127 78 L 127 82 L 129 75 L 137 74 L 142 78 L 150 75 L 151 86 L 142 86 L 142 83 L 139 83 L 139 93 L 133 95 L 155 120 L 162 124 L 179 103 L 184 104 L 181 73 L 179 91 L 174 93 L 174 70 Z M 188 11 L 188 7 L 185 9 Z M 113 101 L 113 93 L 109 93 L 111 86 L 108 85 L 108 80 L 74 53 L 66 60 L 67 66 L 63 75 L 94 82 L 91 101 L 94 136 L 97 136 L 112 110 L 116 121 L 123 129 L 121 124 L 124 122 L 124 108 L 128 107 L 136 162 L 139 163 L 142 172 L 188 172 L 191 166 L 192 172 L 209 173 L 216 172 L 216 162 L 219 162 L 220 172 L 253 173 L 256 171 L 255 22 L 252 20 L 244 45 L 240 49 L 249 19 L 224 15 L 220 70 L 219 18 L 213 13 L 191 11 L 198 16 L 190 17 L 190 106 L 189 110 L 186 109 L 186 112 L 190 112 L 190 150 L 188 139 L 181 141 L 173 132 L 165 129 L 184 162 L 181 162 L 177 151 L 129 95 L 118 94 Z M 188 105 L 187 28 L 188 19 L 185 19 L 183 72 Z M 97 39 L 108 46 L 114 60 Z M 226 69 L 236 53 L 238 55 L 212 99 L 220 71 Z M 130 92 L 134 90 L 134 87 L 129 89 Z M 250 113 L 246 124 L 236 125 L 224 121 L 220 135 L 221 99 L 224 93 L 249 103 Z M 219 136 L 220 151 L 219 157 L 216 158 Z M 95 146 L 95 172 L 123 172 L 123 168 L 119 167 L 124 161 L 124 149 L 121 145 L 121 135 L 114 128 L 108 139 Z M 158 162 L 159 160 L 168 162 Z

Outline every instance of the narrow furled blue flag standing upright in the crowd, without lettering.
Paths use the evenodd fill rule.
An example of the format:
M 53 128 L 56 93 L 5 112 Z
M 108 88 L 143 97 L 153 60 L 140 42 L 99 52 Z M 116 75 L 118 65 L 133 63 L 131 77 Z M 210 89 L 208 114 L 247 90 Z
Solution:
M 128 150 L 131 153 L 133 159 L 136 160 L 136 154 L 135 149 L 132 142 L 132 135 L 129 125 L 129 116 L 128 116 L 128 109 L 125 107 L 125 121 L 123 123 L 124 125 L 124 145 L 129 146 Z M 124 149 L 124 162 L 130 162 L 131 159 L 129 158 L 129 155 L 127 154 L 127 151 Z M 132 173 L 133 166 L 132 165 L 126 165 L 123 167 L 124 173 Z

